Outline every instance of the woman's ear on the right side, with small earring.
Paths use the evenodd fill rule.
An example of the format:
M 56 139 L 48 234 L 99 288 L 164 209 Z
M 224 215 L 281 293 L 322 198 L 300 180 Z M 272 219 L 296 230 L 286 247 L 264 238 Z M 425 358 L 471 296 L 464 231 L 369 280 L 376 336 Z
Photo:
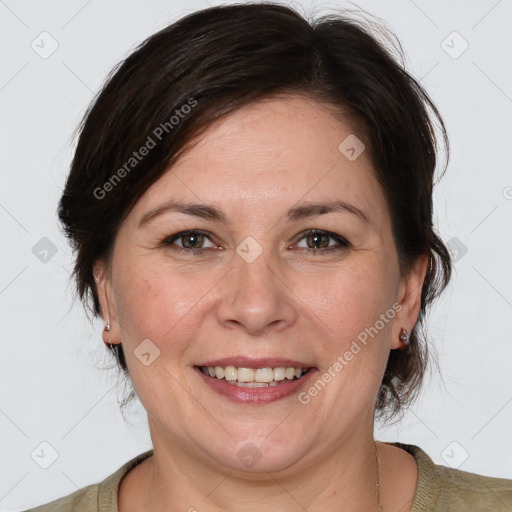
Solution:
M 403 327 L 410 333 L 418 321 L 421 290 L 427 275 L 429 260 L 428 254 L 418 256 L 408 274 L 401 279 L 397 297 L 401 309 L 397 310 L 398 313 L 393 324 L 392 349 L 400 347 L 400 329 Z

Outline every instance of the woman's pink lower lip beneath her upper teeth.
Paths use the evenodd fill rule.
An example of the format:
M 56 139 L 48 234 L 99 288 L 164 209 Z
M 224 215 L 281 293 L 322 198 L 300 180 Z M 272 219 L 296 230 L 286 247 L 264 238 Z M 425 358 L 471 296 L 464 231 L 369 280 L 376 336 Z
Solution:
M 194 367 L 194 370 L 196 370 L 205 384 L 219 393 L 219 395 L 223 395 L 234 402 L 243 404 L 270 403 L 280 400 L 281 398 L 288 397 L 305 386 L 309 382 L 311 376 L 316 372 L 314 368 L 310 368 L 307 373 L 297 380 L 290 380 L 283 384 L 269 386 L 266 388 L 245 388 L 235 384 L 229 384 L 229 382 L 225 380 L 209 377 L 197 366 Z

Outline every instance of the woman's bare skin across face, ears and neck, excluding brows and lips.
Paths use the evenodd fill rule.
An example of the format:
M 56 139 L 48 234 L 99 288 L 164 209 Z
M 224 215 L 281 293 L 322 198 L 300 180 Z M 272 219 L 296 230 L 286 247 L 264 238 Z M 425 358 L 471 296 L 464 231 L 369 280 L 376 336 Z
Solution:
M 338 150 L 351 133 L 327 107 L 299 96 L 236 111 L 140 198 L 111 265 L 97 263 L 102 314 L 111 322 L 104 341 L 123 343 L 155 451 L 121 482 L 119 510 L 378 510 L 373 404 L 400 328 L 410 332 L 417 321 L 427 257 L 400 275 L 368 155 L 349 161 Z M 139 226 L 171 198 L 213 204 L 227 223 L 170 211 Z M 286 219 L 298 203 L 332 200 L 356 206 L 369 222 L 346 212 Z M 199 241 L 201 254 L 178 250 L 194 244 L 190 237 L 161 243 L 188 229 L 211 234 Z M 327 236 L 315 242 L 301 236 L 307 229 L 351 245 Z M 262 248 L 250 264 L 236 253 L 248 236 Z M 393 304 L 400 311 L 307 405 L 297 394 L 237 404 L 193 370 L 245 354 L 304 361 L 320 376 Z M 134 355 L 145 339 L 160 350 L 148 366 Z M 246 443 L 261 453 L 250 468 L 237 457 Z M 408 511 L 415 460 L 377 446 L 384 509 Z

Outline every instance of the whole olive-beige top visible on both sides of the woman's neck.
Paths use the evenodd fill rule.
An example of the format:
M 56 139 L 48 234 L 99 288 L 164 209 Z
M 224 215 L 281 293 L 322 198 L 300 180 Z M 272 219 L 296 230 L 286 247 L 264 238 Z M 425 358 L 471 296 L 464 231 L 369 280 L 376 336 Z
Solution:
M 434 464 L 418 446 L 387 443 L 407 450 L 418 464 L 411 512 L 512 512 L 512 480 L 493 478 Z M 26 512 L 117 512 L 119 483 L 153 450 L 128 461 L 100 483 Z

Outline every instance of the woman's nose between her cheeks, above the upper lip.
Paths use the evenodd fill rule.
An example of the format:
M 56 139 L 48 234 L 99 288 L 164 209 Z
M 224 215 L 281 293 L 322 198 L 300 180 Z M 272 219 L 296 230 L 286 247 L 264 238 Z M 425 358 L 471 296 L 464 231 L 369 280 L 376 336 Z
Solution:
M 219 323 L 252 336 L 291 326 L 298 311 L 293 291 L 286 283 L 286 263 L 279 265 L 265 250 L 251 263 L 238 254 L 233 259 L 233 268 L 223 280 L 217 309 Z

